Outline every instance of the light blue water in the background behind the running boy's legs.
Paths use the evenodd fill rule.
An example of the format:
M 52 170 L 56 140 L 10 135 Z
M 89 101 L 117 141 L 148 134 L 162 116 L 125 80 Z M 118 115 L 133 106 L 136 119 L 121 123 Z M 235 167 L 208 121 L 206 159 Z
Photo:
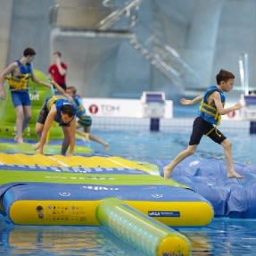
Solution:
M 190 130 L 169 132 L 150 131 L 95 131 L 110 144 L 108 153 L 119 155 L 135 161 L 171 160 L 188 145 Z M 256 135 L 243 132 L 224 132 L 225 136 L 232 142 L 233 160 L 253 164 L 256 166 Z M 96 151 L 103 152 L 101 145 L 90 144 Z M 224 160 L 223 149 L 220 145 L 213 143 L 211 139 L 203 136 L 195 156 L 205 158 L 217 158 Z

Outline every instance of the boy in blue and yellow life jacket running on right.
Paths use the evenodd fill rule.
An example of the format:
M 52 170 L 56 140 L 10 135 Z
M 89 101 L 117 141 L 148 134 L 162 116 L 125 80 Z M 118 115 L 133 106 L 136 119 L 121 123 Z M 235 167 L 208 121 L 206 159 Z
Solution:
M 178 153 L 169 165 L 164 167 L 164 178 L 169 178 L 171 171 L 178 165 L 178 163 L 195 152 L 203 135 L 209 136 L 215 143 L 222 145 L 227 161 L 227 177 L 243 178 L 233 167 L 231 142 L 217 128 L 221 115 L 239 110 L 243 107 L 239 102 L 235 103 L 232 107 L 224 107 L 226 93 L 233 88 L 235 76 L 227 70 L 220 70 L 216 76 L 216 81 L 217 86 L 209 87 L 203 95 L 198 95 L 193 100 L 187 100 L 184 98 L 180 100 L 180 103 L 183 105 L 192 105 L 199 102 L 202 103 L 199 109 L 199 116 L 194 120 L 189 145 L 184 151 Z

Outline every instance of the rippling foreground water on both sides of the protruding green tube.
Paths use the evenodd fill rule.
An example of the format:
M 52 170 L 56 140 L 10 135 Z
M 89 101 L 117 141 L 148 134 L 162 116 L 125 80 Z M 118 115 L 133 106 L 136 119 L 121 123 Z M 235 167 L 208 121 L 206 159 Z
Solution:
M 208 227 L 182 227 L 193 256 L 256 252 L 256 219 L 213 219 Z M 21 227 L 0 219 L 0 255 L 145 256 L 103 227 Z

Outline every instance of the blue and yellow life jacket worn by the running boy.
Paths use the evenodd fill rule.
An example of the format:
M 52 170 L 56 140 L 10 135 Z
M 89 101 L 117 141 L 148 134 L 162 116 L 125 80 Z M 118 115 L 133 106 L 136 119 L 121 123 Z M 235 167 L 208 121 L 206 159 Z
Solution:
M 226 93 L 219 90 L 219 88 L 216 86 L 209 87 L 202 97 L 202 103 L 199 108 L 199 115 L 202 117 L 202 119 L 210 122 L 211 124 L 219 125 L 219 122 L 221 120 L 221 114 L 219 113 L 215 105 L 211 105 L 208 103 L 209 96 L 215 91 L 219 92 L 221 103 L 224 106 L 226 101 Z

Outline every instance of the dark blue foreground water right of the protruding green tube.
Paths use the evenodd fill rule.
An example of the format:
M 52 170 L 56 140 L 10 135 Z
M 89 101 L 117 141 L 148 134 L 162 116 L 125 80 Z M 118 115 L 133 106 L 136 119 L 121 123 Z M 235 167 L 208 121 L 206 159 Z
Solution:
M 190 240 L 193 256 L 255 255 L 256 219 L 213 219 L 202 228 L 181 228 Z

